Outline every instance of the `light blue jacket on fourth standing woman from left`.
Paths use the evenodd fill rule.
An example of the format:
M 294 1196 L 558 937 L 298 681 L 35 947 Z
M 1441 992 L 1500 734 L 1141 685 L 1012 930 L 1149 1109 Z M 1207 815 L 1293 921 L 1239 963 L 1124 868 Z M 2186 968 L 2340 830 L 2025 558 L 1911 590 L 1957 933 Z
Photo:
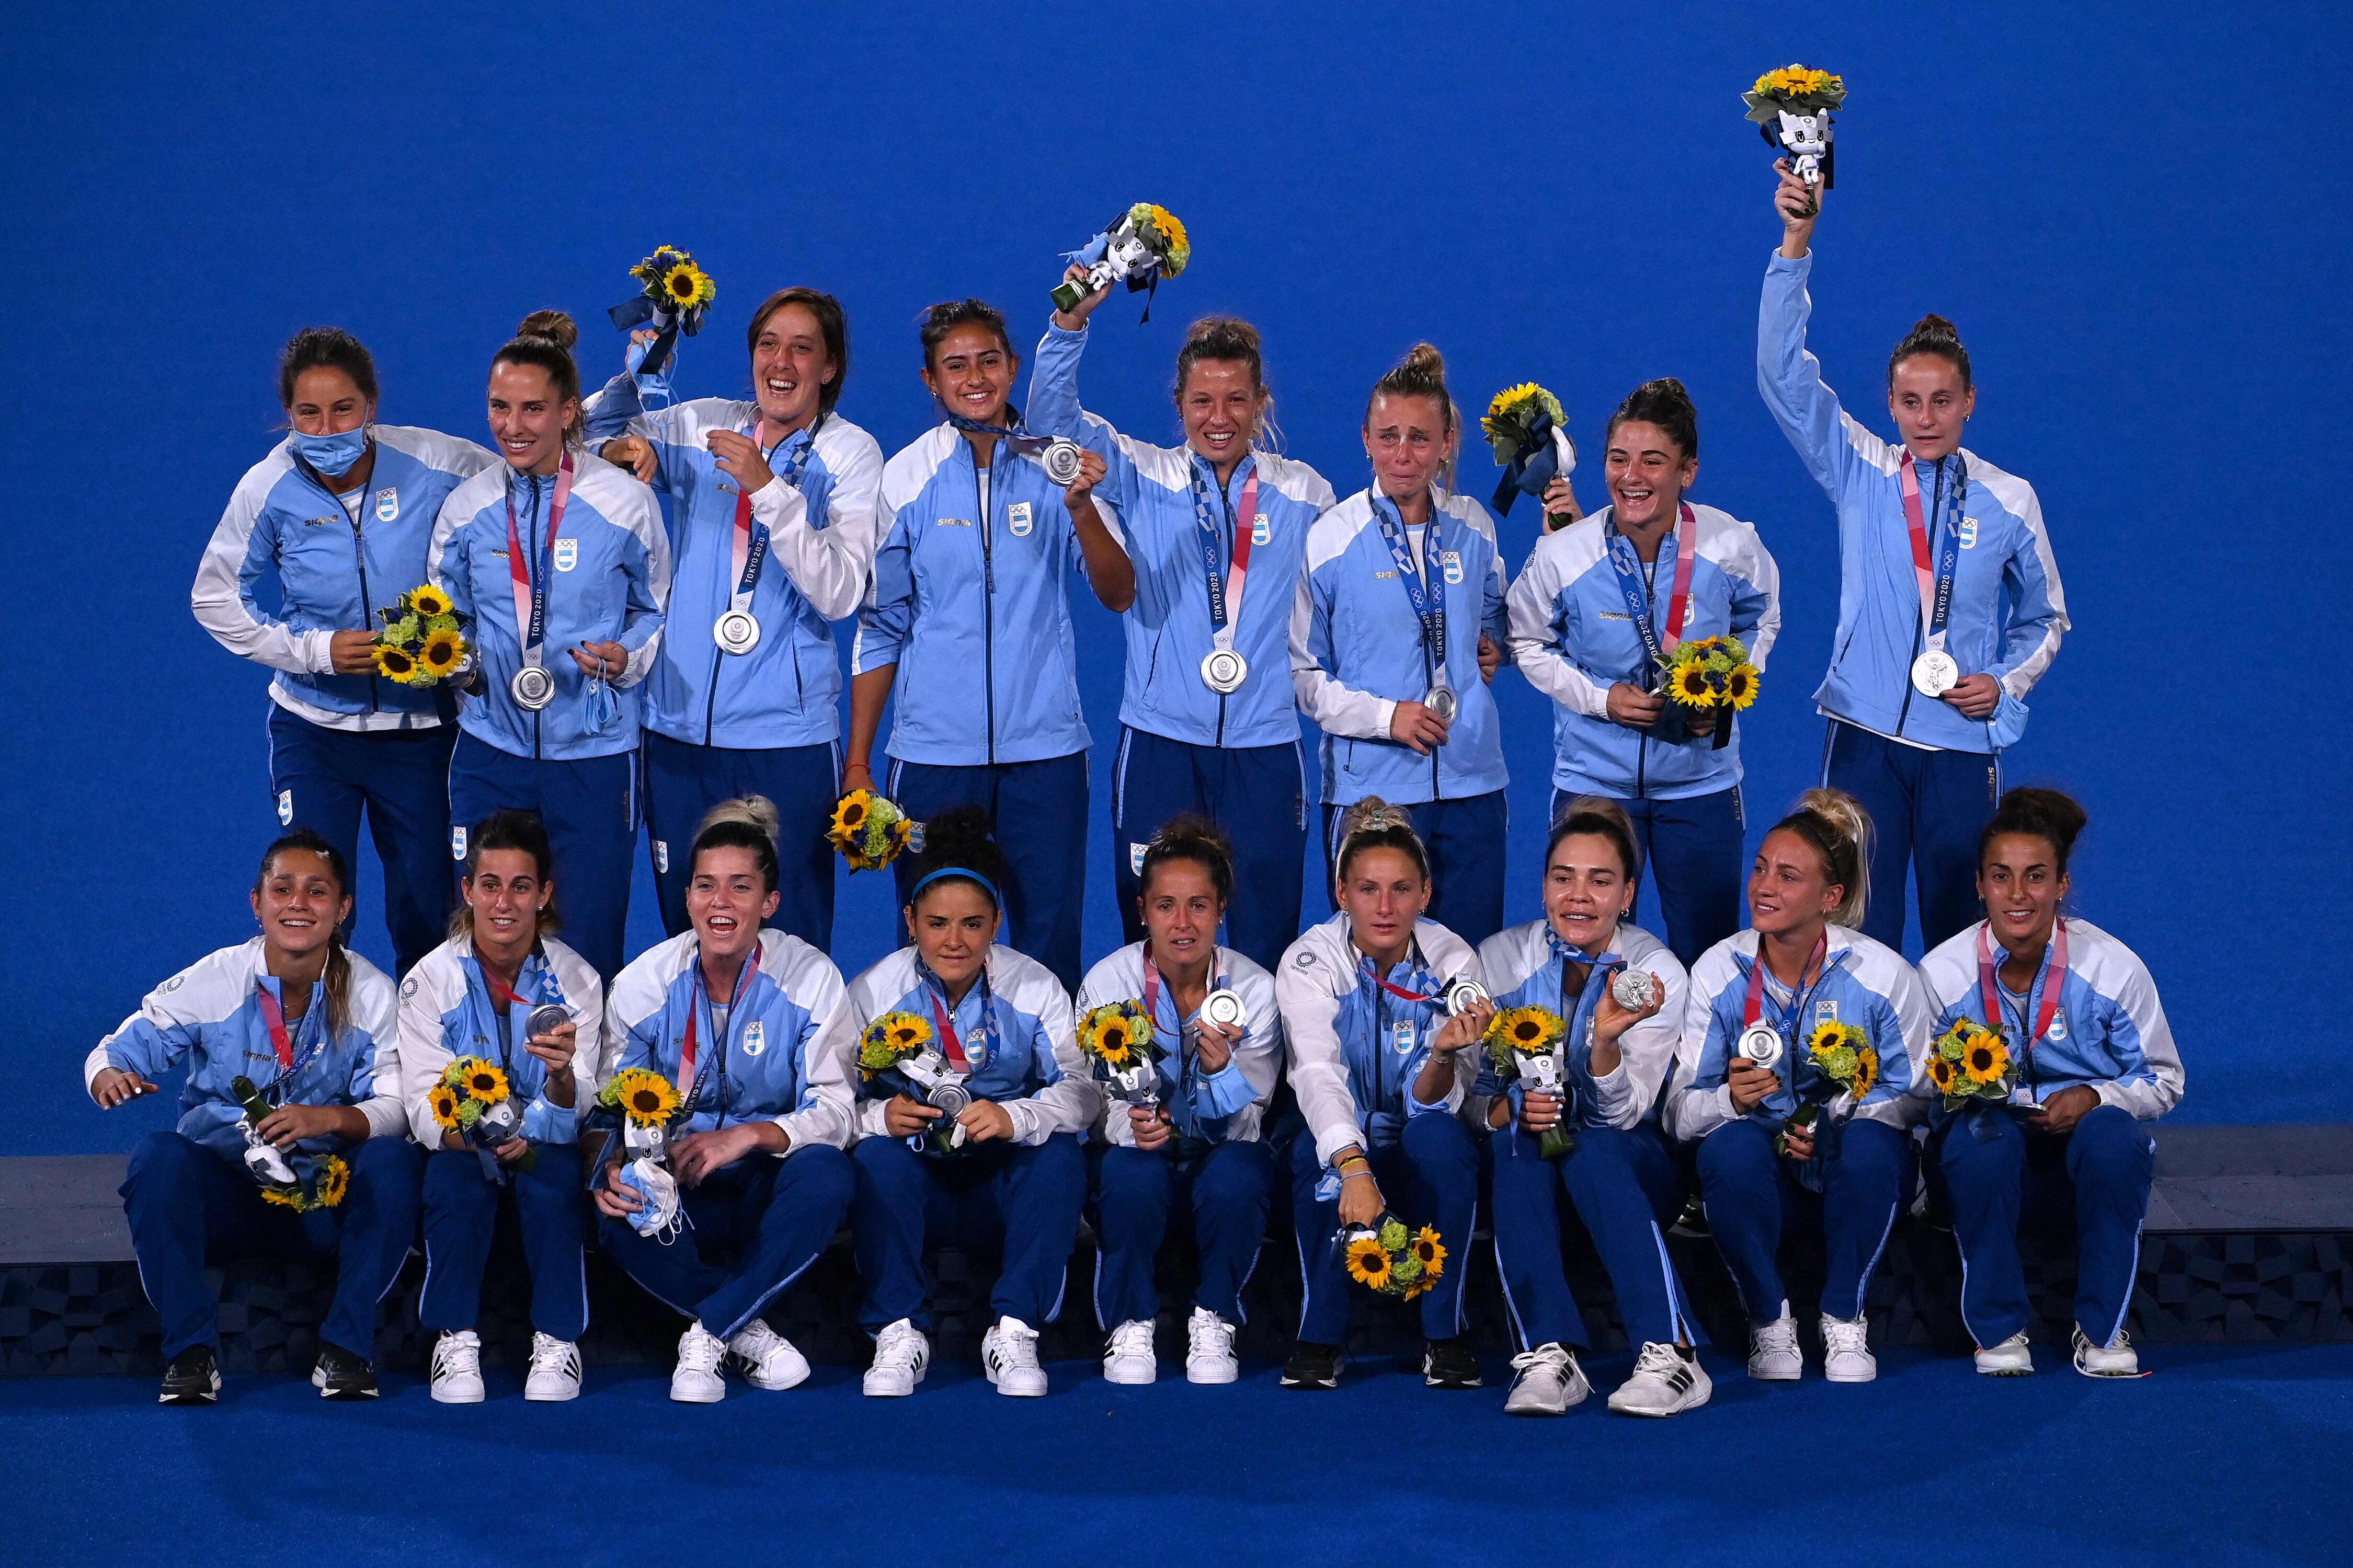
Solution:
M 934 766 L 1087 750 L 1071 578 L 1085 576 L 1061 487 L 1005 442 L 988 458 L 936 425 L 882 465 L 882 548 L 852 675 L 899 665 L 889 755 Z M 1108 498 L 1096 501 L 1120 538 Z

